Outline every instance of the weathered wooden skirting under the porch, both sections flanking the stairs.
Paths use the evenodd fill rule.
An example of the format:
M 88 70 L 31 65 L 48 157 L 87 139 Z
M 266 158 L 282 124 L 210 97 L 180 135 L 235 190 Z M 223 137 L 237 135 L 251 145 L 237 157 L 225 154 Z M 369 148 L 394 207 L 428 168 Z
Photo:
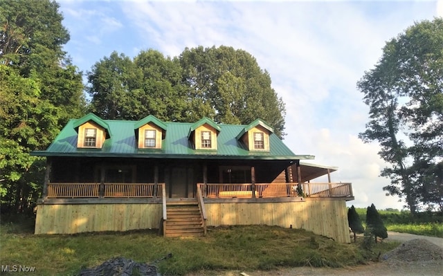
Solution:
M 69 204 L 67 201 L 37 205 L 35 234 L 127 231 L 159 228 L 161 203 L 123 203 L 97 200 Z M 350 243 L 347 208 L 342 199 L 204 199 L 206 225 L 269 225 L 302 228 Z

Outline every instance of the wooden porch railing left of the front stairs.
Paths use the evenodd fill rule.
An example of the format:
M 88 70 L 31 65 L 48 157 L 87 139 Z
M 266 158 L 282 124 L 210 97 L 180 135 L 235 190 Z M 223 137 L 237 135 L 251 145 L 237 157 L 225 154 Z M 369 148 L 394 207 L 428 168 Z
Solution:
M 154 183 L 48 183 L 48 199 L 55 198 L 150 198 L 154 197 Z M 164 185 L 164 183 L 159 183 Z M 162 189 L 157 189 L 157 197 Z

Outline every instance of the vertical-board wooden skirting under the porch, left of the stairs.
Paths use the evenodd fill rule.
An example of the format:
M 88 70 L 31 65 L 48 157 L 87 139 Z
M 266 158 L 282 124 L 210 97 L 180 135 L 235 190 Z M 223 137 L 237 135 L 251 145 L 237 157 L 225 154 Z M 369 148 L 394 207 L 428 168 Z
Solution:
M 39 204 L 35 234 L 159 228 L 161 204 Z

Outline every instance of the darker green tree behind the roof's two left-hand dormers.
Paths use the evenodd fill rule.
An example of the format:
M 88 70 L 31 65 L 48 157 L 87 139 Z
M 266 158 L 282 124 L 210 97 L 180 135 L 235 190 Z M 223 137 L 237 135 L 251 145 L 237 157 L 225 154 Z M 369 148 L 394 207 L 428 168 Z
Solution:
M 177 62 L 157 50 L 141 51 L 134 60 L 111 53 L 97 62 L 89 77 L 90 109 L 102 118 L 186 120 L 186 95 Z

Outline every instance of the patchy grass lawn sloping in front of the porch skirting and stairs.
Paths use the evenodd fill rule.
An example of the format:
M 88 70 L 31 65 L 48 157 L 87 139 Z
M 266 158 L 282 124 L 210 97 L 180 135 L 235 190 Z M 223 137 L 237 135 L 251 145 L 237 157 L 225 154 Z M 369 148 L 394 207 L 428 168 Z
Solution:
M 35 266 L 35 275 L 75 275 L 112 257 L 152 264 L 162 275 L 198 270 L 272 270 L 284 266 L 346 267 L 365 264 L 398 243 L 341 244 L 305 230 L 271 226 L 211 228 L 206 237 L 165 238 L 155 231 L 34 235 L 32 223 L 0 226 L 1 265 Z M 15 275 L 15 274 L 11 274 Z

